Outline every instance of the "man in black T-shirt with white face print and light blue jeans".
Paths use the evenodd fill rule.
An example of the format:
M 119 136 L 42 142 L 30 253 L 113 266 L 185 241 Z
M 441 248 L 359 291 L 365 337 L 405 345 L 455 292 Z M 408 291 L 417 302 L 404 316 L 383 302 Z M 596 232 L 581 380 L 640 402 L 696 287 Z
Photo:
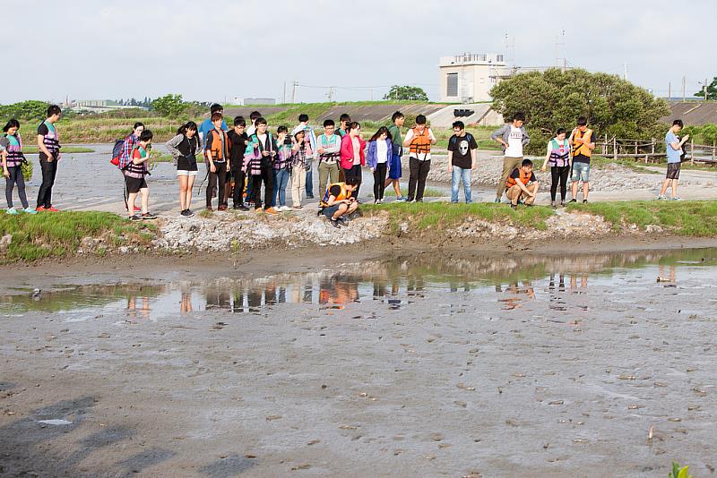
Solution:
M 451 202 L 458 203 L 458 189 L 463 184 L 465 203 L 473 202 L 471 173 L 476 168 L 478 143 L 465 131 L 462 121 L 454 123 L 454 135 L 448 140 L 448 174 L 451 175 Z

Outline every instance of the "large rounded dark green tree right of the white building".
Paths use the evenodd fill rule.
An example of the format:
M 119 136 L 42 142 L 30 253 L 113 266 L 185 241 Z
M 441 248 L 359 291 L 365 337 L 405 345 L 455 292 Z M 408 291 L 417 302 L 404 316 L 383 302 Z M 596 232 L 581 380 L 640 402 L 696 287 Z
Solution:
M 531 132 L 530 153 L 542 153 L 557 128 L 574 127 L 579 116 L 599 135 L 625 139 L 664 135 L 659 123 L 669 105 L 617 75 L 550 68 L 522 73 L 498 83 L 490 92 L 493 108 L 506 118 L 521 111 Z

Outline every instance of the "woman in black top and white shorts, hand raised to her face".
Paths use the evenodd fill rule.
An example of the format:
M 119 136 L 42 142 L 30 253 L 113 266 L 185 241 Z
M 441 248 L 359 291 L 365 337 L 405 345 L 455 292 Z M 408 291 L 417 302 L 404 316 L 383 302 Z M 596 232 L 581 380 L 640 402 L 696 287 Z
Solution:
M 177 136 L 165 143 L 168 151 L 177 163 L 177 182 L 179 183 L 179 214 L 185 218 L 194 216 L 192 212 L 192 188 L 197 175 L 196 154 L 202 149 L 198 128 L 194 121 L 183 124 L 177 130 Z

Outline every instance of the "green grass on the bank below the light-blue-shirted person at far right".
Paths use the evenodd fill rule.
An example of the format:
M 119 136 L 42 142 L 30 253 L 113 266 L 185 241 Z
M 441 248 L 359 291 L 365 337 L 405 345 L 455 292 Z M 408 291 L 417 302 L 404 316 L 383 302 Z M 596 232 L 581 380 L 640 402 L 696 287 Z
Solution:
M 677 235 L 717 236 L 717 201 L 624 201 L 569 203 L 567 210 L 600 215 L 617 232 L 635 224 L 661 226 Z

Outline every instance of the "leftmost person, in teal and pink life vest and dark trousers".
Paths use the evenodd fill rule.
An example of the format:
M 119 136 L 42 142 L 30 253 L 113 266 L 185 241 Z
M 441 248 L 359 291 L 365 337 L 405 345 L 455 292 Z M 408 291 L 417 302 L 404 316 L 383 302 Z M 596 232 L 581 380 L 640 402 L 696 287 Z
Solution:
M 30 208 L 25 194 L 25 178 L 22 175 L 22 163 L 27 161 L 22 154 L 22 138 L 20 137 L 20 122 L 11 119 L 5 124 L 3 134 L 0 136 L 0 156 L 3 160 L 3 175 L 5 177 L 5 199 L 7 200 L 7 214 L 17 214 L 13 207 L 13 190 L 17 186 L 17 195 L 22 203 L 21 212 L 37 214 L 38 211 Z

